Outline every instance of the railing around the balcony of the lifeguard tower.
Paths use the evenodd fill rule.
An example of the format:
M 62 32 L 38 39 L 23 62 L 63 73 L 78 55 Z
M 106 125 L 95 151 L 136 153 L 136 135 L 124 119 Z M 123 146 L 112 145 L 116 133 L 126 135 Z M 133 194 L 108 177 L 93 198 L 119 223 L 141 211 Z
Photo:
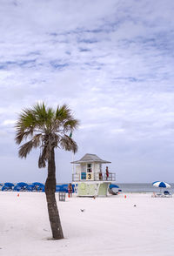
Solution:
M 116 173 L 109 173 L 107 177 L 106 173 L 97 172 L 81 172 L 72 174 L 72 181 L 116 181 Z

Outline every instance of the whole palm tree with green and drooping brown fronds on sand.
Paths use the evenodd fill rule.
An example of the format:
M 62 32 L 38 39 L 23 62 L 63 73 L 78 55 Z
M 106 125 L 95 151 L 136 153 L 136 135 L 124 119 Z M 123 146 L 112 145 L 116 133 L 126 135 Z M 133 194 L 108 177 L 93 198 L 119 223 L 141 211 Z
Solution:
M 77 152 L 77 144 L 68 136 L 77 129 L 78 120 L 73 118 L 66 104 L 57 106 L 57 110 L 48 108 L 45 104 L 36 104 L 32 108 L 24 109 L 16 124 L 16 143 L 20 145 L 18 155 L 26 158 L 33 148 L 40 148 L 38 167 L 48 165 L 48 177 L 45 183 L 45 194 L 50 218 L 50 227 L 53 239 L 64 239 L 60 217 L 57 209 L 56 192 L 56 165 L 55 149 Z

